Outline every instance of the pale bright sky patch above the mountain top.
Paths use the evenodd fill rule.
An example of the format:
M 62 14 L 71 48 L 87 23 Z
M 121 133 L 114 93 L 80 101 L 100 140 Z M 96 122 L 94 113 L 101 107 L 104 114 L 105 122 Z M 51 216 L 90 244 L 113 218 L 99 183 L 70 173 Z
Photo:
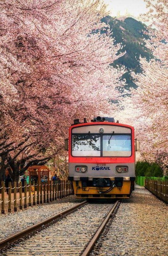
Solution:
M 126 10 L 135 17 L 138 17 L 140 13 L 147 12 L 143 0 L 104 0 L 104 2 L 108 4 L 111 16 L 117 16 L 118 11 L 120 11 L 120 15 L 124 15 Z

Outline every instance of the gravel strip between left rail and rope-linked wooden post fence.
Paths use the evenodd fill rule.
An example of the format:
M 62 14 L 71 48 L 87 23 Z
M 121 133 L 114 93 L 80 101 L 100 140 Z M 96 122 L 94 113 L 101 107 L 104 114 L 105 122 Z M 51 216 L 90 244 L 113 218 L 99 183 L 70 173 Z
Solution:
M 0 215 L 0 240 L 39 221 L 45 220 L 59 212 L 84 201 L 77 199 L 75 196 L 58 199 L 48 204 L 28 207 L 19 212 Z

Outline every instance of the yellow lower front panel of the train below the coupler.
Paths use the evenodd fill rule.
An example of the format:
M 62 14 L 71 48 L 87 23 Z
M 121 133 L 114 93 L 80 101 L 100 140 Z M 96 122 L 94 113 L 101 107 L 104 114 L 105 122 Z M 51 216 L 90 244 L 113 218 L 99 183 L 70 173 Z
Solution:
M 78 198 L 129 198 L 131 194 L 131 181 L 123 181 L 123 186 L 121 188 L 114 187 L 108 193 L 101 194 L 101 191 L 109 189 L 109 187 L 96 188 L 96 187 L 86 187 L 82 188 L 82 182 L 73 181 L 74 194 Z

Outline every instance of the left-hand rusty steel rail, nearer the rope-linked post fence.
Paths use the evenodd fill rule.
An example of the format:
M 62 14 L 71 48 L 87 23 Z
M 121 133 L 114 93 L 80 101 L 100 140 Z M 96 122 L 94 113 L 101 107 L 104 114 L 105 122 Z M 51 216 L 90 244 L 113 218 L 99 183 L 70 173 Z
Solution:
M 19 232 L 16 232 L 14 234 L 12 234 L 11 236 L 8 236 L 7 238 L 4 238 L 3 240 L 0 240 L 0 250 L 5 248 L 5 246 L 10 245 L 13 242 L 16 242 L 18 239 L 24 237 L 24 236 L 28 236 L 30 233 L 36 231 L 37 229 L 41 228 L 42 226 L 45 226 L 46 224 L 52 222 L 52 220 L 58 219 L 64 215 L 66 215 L 67 213 L 71 213 L 72 211 L 74 211 L 75 209 L 79 208 L 80 206 L 87 204 L 87 201 L 83 201 L 82 203 L 76 204 L 75 206 L 62 211 L 56 215 L 51 216 L 50 218 L 47 218 L 45 220 L 42 220 L 38 223 L 36 223 L 35 225 L 32 225 L 28 228 L 22 229 Z

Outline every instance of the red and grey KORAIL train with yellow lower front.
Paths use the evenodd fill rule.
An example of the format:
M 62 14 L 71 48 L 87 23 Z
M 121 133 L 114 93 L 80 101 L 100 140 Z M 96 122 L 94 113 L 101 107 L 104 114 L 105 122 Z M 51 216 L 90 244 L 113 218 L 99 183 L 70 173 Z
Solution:
M 134 190 L 135 151 L 139 140 L 134 128 L 97 116 L 74 120 L 65 140 L 69 176 L 77 198 L 129 198 Z

